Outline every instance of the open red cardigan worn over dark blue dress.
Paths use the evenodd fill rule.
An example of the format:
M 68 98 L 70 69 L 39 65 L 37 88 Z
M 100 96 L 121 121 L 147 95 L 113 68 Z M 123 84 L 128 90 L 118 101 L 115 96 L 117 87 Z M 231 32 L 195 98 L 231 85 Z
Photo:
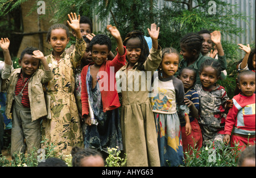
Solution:
M 94 63 L 90 63 L 89 65 L 93 64 Z M 125 64 L 126 49 L 124 55 L 120 56 L 119 53 L 117 53 L 117 56 L 115 56 L 112 61 L 106 60 L 100 67 L 99 73 L 102 72 L 104 74 L 104 76 L 100 76 L 101 101 L 104 112 L 116 109 L 121 106 L 117 90 L 115 89 L 115 73 Z M 86 74 L 88 72 L 89 65 L 86 65 L 84 68 L 82 68 L 81 72 L 82 115 L 89 114 L 88 93 L 86 86 Z M 106 77 L 106 74 L 108 74 L 108 77 Z M 103 86 L 104 84 L 105 86 Z

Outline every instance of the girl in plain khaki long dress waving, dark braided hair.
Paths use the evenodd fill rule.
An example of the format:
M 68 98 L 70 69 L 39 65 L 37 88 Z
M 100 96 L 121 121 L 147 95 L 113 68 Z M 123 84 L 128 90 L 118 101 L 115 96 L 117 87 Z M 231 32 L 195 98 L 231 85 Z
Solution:
M 119 70 L 119 81 L 122 84 L 121 129 L 127 166 L 160 166 L 148 89 L 142 90 L 147 84 L 145 81 L 137 80 L 140 78 L 139 72 L 150 72 L 150 76 L 147 77 L 151 77 L 161 62 L 161 50 L 158 45 L 159 27 L 156 28 L 156 24 L 151 24 L 148 33 L 152 39 L 150 55 L 142 32 L 130 32 L 123 42 L 127 49 L 128 63 Z M 135 79 L 138 82 L 135 82 Z M 129 88 L 123 89 L 126 86 Z

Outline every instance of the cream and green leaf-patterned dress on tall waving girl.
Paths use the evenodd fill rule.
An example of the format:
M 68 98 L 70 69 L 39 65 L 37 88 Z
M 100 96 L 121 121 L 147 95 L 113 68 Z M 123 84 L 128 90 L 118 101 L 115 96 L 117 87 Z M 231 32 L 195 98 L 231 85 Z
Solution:
M 69 155 L 73 146 L 83 147 L 79 112 L 74 96 L 75 74 L 73 70 L 80 65 L 86 43 L 77 39 L 75 51 L 61 55 L 57 61 L 51 54 L 46 56 L 53 72 L 53 79 L 46 86 L 51 96 L 51 119 L 42 122 L 42 136 L 54 143 L 59 154 Z M 43 146 L 42 146 L 43 147 Z

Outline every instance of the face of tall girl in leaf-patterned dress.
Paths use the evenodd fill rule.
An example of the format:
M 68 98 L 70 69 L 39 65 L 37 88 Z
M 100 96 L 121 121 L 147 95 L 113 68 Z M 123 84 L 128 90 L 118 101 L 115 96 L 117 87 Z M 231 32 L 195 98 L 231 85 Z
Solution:
M 49 44 L 51 44 L 52 49 L 56 53 L 63 53 L 67 44 L 69 42 L 69 38 L 67 37 L 66 30 L 63 28 L 53 29 L 51 31 L 51 38 L 49 40 Z

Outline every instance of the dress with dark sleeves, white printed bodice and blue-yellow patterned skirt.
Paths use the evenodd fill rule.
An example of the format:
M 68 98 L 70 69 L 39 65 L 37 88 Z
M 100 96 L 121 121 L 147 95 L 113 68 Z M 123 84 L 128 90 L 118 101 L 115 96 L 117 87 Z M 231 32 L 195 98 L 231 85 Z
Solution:
M 162 78 L 159 74 L 158 90 L 153 90 L 151 106 L 154 112 L 158 149 L 161 166 L 178 166 L 183 163 L 179 112 L 184 117 L 189 108 L 184 102 L 184 88 L 181 80 L 175 76 Z

